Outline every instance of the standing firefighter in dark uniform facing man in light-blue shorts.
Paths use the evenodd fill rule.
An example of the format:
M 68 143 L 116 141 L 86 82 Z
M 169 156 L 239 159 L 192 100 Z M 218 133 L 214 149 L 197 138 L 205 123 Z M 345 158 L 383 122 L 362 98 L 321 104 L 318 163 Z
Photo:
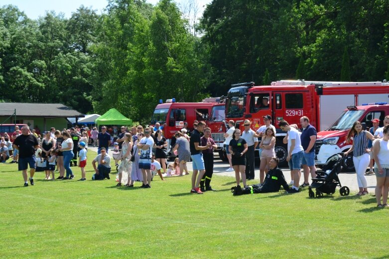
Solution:
M 213 149 L 218 148 L 215 141 L 213 141 L 211 137 L 211 129 L 206 127 L 204 128 L 204 136 L 201 137 L 201 145 L 206 146 L 208 142 L 211 143 L 211 146 L 203 150 L 205 174 L 200 181 L 200 190 L 202 192 L 215 191 L 215 189 L 212 189 L 210 183 L 213 174 Z

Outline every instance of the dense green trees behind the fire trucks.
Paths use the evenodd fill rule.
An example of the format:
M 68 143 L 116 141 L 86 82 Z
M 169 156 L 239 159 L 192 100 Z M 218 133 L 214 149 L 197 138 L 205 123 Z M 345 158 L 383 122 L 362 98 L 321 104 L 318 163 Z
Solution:
M 387 0 L 213 0 L 196 32 L 183 17 L 173 0 L 109 0 L 102 14 L 81 5 L 68 19 L 2 6 L 0 99 L 115 107 L 148 123 L 159 99 L 199 101 L 232 83 L 389 71 Z

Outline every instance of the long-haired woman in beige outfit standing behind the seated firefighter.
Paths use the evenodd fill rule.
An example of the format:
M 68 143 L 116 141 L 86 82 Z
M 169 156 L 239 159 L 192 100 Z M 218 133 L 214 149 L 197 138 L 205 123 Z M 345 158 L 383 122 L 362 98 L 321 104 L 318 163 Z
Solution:
M 275 157 L 274 151 L 275 145 L 275 132 L 272 127 L 268 127 L 262 140 L 260 141 L 259 147 L 262 148 L 260 165 L 259 165 L 259 182 L 263 183 L 265 173 L 267 174 L 268 164 L 270 163 L 271 158 Z

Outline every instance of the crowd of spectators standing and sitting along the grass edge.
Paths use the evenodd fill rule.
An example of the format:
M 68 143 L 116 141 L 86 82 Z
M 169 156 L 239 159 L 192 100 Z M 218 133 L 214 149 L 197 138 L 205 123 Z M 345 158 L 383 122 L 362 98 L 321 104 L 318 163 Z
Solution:
M 228 122 L 229 129 L 224 136 L 230 164 L 227 171 L 235 171 L 234 195 L 275 192 L 279 191 L 280 186 L 288 193 L 297 193 L 301 188 L 309 186 L 309 175 L 311 178 L 316 177 L 316 129 L 309 124 L 309 118 L 305 116 L 300 118 L 302 130 L 286 121 L 278 123 L 278 127 L 286 132 L 283 143 L 287 144 L 286 161 L 291 173 L 291 182 L 286 184 L 275 157 L 275 127 L 271 125 L 269 115 L 263 116 L 263 120 L 265 125 L 256 131 L 251 128 L 252 122 L 249 120 L 244 121 L 243 131 L 235 128 L 234 121 Z M 379 128 L 379 122 L 374 119 L 370 130 L 364 130 L 360 122 L 355 122 L 347 136 L 347 141 L 353 139 L 353 145 L 345 155 L 353 152 L 359 186 L 357 195 L 369 193 L 365 173 L 370 166 L 370 171 L 366 174 L 372 174 L 374 167 L 377 177 L 377 206 L 389 207 L 389 116 L 385 117 L 384 127 Z M 81 168 L 80 181 L 85 181 L 87 148 L 90 144 L 98 147 L 98 155 L 92 160 L 95 170 L 92 179 L 110 179 L 111 156 L 108 150 L 115 141 L 118 186 L 133 187 L 134 182 L 139 181 L 142 182 L 140 188 L 151 188 L 154 175 L 158 174 L 161 180 L 164 180 L 166 176 L 189 174 L 186 164 L 192 161 L 191 193 L 202 194 L 215 190 L 210 183 L 214 167 L 213 149 L 216 149 L 217 145 L 205 122 L 195 121 L 193 126 L 191 131 L 185 123 L 184 128 L 175 133 L 175 141 L 171 146 L 172 154 L 177 156 L 174 163 L 167 163 L 168 142 L 163 134 L 163 126 L 159 124 L 146 128 L 140 125 L 132 128 L 123 126 L 115 139 L 107 132 L 106 126 L 101 127 L 101 132 L 97 128 L 75 127 L 62 131 L 51 128 L 50 131 L 43 132 L 41 138 L 34 130 L 30 131 L 28 126 L 21 130 L 16 126 L 11 135 L 4 134 L 1 137 L 0 162 L 4 163 L 12 156 L 11 163 L 17 163 L 18 169 L 22 171 L 24 186 L 28 186 L 28 165 L 31 185 L 34 185 L 33 176 L 37 168 L 45 171 L 45 179 L 54 180 L 54 170 L 57 167 L 59 176 L 56 179 L 66 180 L 75 177 L 71 167 L 78 166 Z M 258 144 L 259 184 L 249 186 L 247 180 L 255 178 L 254 152 Z M 304 182 L 299 185 L 301 168 Z M 240 186 L 241 179 L 243 188 Z

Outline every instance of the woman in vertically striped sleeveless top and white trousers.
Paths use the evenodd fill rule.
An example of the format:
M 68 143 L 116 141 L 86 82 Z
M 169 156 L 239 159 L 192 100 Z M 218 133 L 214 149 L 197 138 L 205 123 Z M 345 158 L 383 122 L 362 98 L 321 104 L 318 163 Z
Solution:
M 373 140 L 374 137 L 372 133 L 362 129 L 362 124 L 359 121 L 356 121 L 353 124 L 353 127 L 349 130 L 349 133 L 347 134 L 347 142 L 350 142 L 351 137 L 353 137 L 353 145 L 344 154 L 347 156 L 349 153 L 353 152 L 353 162 L 357 173 L 359 187 L 357 195 L 366 195 L 369 193 L 368 182 L 365 177 L 366 169 L 368 168 L 370 162 L 368 140 Z

